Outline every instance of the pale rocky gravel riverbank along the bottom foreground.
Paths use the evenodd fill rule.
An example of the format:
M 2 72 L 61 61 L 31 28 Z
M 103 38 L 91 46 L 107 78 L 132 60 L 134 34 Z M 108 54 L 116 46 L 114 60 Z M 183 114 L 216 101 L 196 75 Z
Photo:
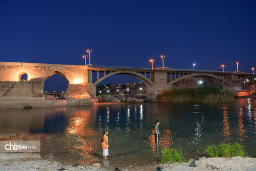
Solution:
M 208 158 L 208 159 L 199 159 L 195 161 L 196 167 L 189 167 L 189 162 L 182 164 L 159 164 L 159 165 L 148 165 L 148 166 L 129 166 L 129 167 L 119 167 L 121 170 L 141 170 L 149 171 L 156 170 L 159 166 L 161 170 L 178 170 L 178 171 L 207 171 L 207 170 L 256 170 L 256 158 L 249 157 L 233 157 L 233 158 Z M 63 162 L 56 162 L 50 160 L 21 160 L 21 159 L 0 159 L 0 170 L 58 170 L 65 168 L 66 170 L 95 170 L 95 171 L 105 171 L 105 170 L 114 170 L 118 166 L 111 166 L 108 163 L 108 160 L 102 164 L 94 164 L 91 166 L 76 166 L 69 165 Z

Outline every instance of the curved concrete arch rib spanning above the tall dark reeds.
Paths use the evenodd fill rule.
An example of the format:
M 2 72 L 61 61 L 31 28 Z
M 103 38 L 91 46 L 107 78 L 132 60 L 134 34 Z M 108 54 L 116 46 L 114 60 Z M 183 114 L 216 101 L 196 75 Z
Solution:
M 181 77 L 179 77 L 179 78 L 176 78 L 176 79 L 170 81 L 168 84 L 169 84 L 169 85 L 173 85 L 174 83 L 177 83 L 177 82 L 179 82 L 179 81 L 182 80 L 182 79 L 186 79 L 186 78 L 189 78 L 189 77 L 196 77 L 196 76 L 207 76 L 207 77 L 217 78 L 217 79 L 219 79 L 219 80 L 222 80 L 222 81 L 225 82 L 226 84 L 232 86 L 232 83 L 229 82 L 228 80 L 226 80 L 225 78 L 222 78 L 222 77 L 219 77 L 219 76 L 213 75 L 213 74 L 207 74 L 207 73 L 188 74 L 188 75 L 185 75 L 185 76 L 181 76 Z

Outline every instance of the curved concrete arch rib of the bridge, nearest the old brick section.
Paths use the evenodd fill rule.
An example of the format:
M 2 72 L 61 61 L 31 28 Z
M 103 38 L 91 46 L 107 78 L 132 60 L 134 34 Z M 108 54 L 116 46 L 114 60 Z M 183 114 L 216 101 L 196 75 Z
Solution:
M 107 74 L 105 75 L 104 77 L 101 77 L 100 79 L 98 79 L 96 82 L 94 82 L 93 84 L 94 85 L 97 85 L 99 84 L 102 80 L 110 77 L 110 76 L 113 76 L 113 75 L 129 75 L 129 76 L 132 76 L 134 78 L 137 78 L 139 79 L 142 83 L 144 83 L 145 85 L 155 85 L 154 82 L 152 82 L 150 79 L 148 79 L 146 76 L 143 76 L 141 74 L 139 74 L 138 72 L 134 72 L 134 71 L 115 71 L 115 72 L 111 72 L 110 74 Z

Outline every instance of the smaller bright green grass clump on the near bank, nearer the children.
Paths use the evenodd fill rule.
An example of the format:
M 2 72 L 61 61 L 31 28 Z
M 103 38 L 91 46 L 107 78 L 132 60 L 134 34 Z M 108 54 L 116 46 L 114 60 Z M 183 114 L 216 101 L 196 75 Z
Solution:
M 181 150 L 177 151 L 175 149 L 167 149 L 165 148 L 163 151 L 163 156 L 161 159 L 159 159 L 160 162 L 162 162 L 163 164 L 166 164 L 168 161 L 170 163 L 174 163 L 174 162 L 187 162 L 187 160 L 185 159 L 185 155 L 182 154 Z

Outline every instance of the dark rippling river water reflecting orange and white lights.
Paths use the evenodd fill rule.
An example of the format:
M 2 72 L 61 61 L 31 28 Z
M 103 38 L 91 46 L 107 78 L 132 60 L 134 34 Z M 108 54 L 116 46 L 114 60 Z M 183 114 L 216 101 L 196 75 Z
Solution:
M 155 144 L 154 124 L 160 121 Z M 164 148 L 186 158 L 205 154 L 206 145 L 239 142 L 256 157 L 256 101 L 230 103 L 143 103 L 92 107 L 0 110 L 0 140 L 40 140 L 41 157 L 70 164 L 103 162 L 101 138 L 108 129 L 104 164 L 156 164 Z

